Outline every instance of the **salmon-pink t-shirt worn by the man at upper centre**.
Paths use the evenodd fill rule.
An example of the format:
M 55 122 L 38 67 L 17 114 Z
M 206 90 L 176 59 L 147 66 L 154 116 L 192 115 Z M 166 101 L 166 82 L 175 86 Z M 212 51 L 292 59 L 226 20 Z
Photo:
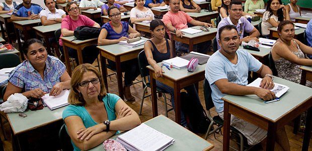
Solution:
M 187 27 L 187 23 L 192 21 L 193 19 L 187 15 L 185 12 L 179 11 L 178 13 L 172 13 L 169 11 L 163 17 L 163 22 L 165 25 L 171 23 L 171 25 L 177 29 L 185 29 Z M 170 31 L 167 29 L 167 34 L 169 37 L 171 36 Z

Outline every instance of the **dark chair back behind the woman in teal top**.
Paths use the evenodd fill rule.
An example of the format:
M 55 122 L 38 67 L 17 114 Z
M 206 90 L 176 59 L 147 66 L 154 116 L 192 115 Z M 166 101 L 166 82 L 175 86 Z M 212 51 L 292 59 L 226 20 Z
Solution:
M 65 124 L 63 124 L 58 131 L 58 139 L 59 139 L 59 144 L 61 145 L 61 149 L 63 151 L 73 150 L 71 139 L 69 135 L 67 134 Z

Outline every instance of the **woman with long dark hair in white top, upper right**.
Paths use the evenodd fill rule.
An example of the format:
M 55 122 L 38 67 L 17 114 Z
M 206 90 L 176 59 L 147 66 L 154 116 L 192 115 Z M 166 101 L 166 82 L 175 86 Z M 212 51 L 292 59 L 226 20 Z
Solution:
M 265 38 L 270 37 L 269 28 L 277 27 L 281 21 L 290 21 L 289 12 L 282 0 L 269 0 L 267 10 L 263 13 L 261 32 Z

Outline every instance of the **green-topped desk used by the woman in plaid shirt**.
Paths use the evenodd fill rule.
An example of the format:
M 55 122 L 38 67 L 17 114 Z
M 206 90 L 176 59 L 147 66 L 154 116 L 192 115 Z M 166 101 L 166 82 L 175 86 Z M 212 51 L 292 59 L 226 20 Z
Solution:
M 6 113 L 14 137 L 12 143 L 16 142 L 13 146 L 21 147 L 19 146 L 19 142 L 22 142 L 23 140 L 19 139 L 20 134 L 27 133 L 33 129 L 44 127 L 62 120 L 62 113 L 64 109 L 65 107 L 61 107 L 53 111 L 51 111 L 48 107 L 44 107 L 42 110 L 36 111 L 27 109 L 23 112 L 27 115 L 25 118 L 20 117 L 19 113 Z M 23 148 L 20 149 L 23 150 Z

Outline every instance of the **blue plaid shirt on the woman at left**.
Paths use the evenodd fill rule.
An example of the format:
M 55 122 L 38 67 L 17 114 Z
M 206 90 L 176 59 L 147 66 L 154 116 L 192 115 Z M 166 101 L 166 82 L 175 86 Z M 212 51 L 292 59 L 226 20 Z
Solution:
M 53 86 L 60 82 L 60 77 L 65 72 L 65 65 L 56 57 L 49 56 L 45 61 L 44 79 L 28 60 L 19 64 L 9 74 L 9 82 L 25 92 L 40 88 L 49 93 Z

